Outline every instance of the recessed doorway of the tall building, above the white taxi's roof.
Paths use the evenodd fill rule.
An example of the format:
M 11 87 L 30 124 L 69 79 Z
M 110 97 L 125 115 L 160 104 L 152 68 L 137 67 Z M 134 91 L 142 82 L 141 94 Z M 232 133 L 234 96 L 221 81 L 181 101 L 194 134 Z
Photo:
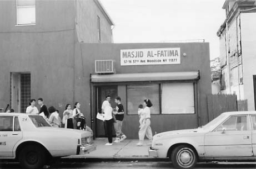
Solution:
M 11 73 L 11 108 L 26 113 L 31 99 L 31 74 Z

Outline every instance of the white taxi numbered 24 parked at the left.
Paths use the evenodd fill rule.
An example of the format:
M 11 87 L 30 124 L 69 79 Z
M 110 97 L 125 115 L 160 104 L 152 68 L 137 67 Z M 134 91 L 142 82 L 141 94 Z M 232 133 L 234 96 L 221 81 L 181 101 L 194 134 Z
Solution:
M 89 131 L 53 128 L 40 115 L 0 113 L 0 159 L 16 159 L 25 168 L 40 168 L 55 157 L 95 149 Z

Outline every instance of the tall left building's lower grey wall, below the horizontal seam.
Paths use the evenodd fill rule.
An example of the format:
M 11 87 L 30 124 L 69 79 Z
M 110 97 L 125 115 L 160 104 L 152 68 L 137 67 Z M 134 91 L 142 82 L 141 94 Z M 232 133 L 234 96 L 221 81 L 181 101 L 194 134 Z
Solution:
M 64 110 L 73 102 L 74 30 L 0 34 L 0 105 L 9 103 L 10 72 L 31 73 L 31 98 Z

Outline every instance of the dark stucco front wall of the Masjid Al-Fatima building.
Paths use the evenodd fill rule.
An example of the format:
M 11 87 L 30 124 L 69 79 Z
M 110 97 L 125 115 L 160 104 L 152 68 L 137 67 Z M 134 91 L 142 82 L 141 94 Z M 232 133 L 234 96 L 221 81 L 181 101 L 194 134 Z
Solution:
M 148 66 L 120 66 L 120 50 L 121 49 L 142 49 L 142 48 L 160 48 L 160 47 L 180 47 L 180 53 L 187 53 L 187 56 L 181 56 L 180 65 L 148 65 Z M 198 81 L 199 87 L 199 125 L 203 125 L 208 122 L 207 111 L 207 98 L 206 94 L 212 93 L 211 81 L 210 81 L 210 61 L 209 61 L 209 44 L 208 43 L 187 43 L 187 44 L 77 44 L 76 45 L 76 82 L 75 82 L 75 98 L 82 103 L 82 110 L 86 114 L 87 119 L 91 117 L 91 105 L 90 105 L 90 73 L 94 73 L 94 61 L 114 59 L 116 60 L 116 72 L 117 73 L 148 73 L 148 72 L 178 72 L 178 71 L 200 71 L 200 80 Z M 123 87 L 118 87 L 118 94 L 121 95 L 122 103 L 126 107 L 126 98 L 124 98 L 124 90 L 120 91 Z M 125 88 L 125 87 L 124 87 Z M 166 115 L 168 116 L 168 115 Z M 171 115 L 170 115 L 171 116 Z M 186 117 L 186 118 L 184 118 Z M 185 127 L 193 128 L 197 124 L 189 123 L 190 118 L 197 118 L 195 115 L 180 115 L 179 119 L 182 119 Z M 152 123 L 161 122 L 163 117 L 157 117 L 158 120 Z M 129 115 L 126 120 L 130 124 L 137 124 L 137 116 Z M 167 121 L 166 121 L 167 120 Z M 172 119 L 173 129 L 175 123 L 178 121 Z M 165 122 L 166 121 L 166 122 Z M 152 124 L 164 127 L 164 125 L 170 124 L 168 118 L 165 118 L 163 123 Z M 89 120 L 87 120 L 89 123 Z M 128 128 L 124 124 L 124 128 Z M 165 129 L 168 127 L 165 126 Z M 133 129 L 134 130 L 134 129 Z M 154 132 L 154 131 L 153 131 Z M 159 131 L 157 131 L 159 132 Z

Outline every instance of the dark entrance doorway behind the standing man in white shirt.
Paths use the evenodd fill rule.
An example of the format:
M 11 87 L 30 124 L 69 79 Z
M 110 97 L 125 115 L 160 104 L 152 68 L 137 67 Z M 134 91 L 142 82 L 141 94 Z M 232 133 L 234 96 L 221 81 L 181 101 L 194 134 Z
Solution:
M 98 86 L 97 87 L 97 112 L 100 112 L 102 103 L 105 101 L 106 96 L 111 96 L 111 106 L 112 108 L 116 107 L 116 103 L 114 102 L 114 98 L 117 97 L 117 86 Z M 97 113 L 94 114 L 94 119 L 96 119 L 96 137 L 104 137 L 106 136 L 106 125 L 103 123 L 102 120 L 98 120 L 96 118 Z M 113 126 L 113 136 L 116 136 L 116 132 Z

